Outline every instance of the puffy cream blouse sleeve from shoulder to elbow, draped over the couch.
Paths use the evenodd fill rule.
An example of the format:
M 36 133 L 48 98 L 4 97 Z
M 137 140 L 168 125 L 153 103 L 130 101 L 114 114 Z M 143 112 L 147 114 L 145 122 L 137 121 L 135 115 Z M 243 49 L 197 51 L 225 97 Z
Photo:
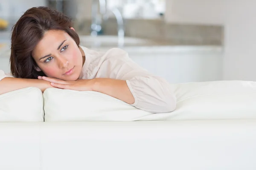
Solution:
M 109 52 L 108 65 L 111 78 L 126 80 L 135 99 L 134 107 L 151 113 L 175 110 L 176 97 L 171 85 L 140 67 L 125 51 L 115 48 Z

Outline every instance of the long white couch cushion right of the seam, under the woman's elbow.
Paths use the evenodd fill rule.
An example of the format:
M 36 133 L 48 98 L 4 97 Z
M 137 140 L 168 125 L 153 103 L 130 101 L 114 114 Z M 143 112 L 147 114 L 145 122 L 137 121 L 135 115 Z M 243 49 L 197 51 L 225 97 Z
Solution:
M 176 110 L 148 113 L 93 91 L 56 88 L 44 92 L 46 121 L 255 119 L 256 82 L 213 81 L 171 85 Z

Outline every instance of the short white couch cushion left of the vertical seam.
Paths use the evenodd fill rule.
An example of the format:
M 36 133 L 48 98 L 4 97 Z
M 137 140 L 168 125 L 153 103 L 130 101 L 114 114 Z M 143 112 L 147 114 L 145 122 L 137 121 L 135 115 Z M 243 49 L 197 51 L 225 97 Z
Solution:
M 39 88 L 22 88 L 0 95 L 0 122 L 44 122 Z

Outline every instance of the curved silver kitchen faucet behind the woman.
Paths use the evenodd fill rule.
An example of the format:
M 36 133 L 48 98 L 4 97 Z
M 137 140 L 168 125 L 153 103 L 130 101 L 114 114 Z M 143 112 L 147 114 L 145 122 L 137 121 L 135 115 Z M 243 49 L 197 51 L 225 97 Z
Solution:
M 117 8 L 107 9 L 106 0 L 99 0 L 99 13 L 101 17 L 98 17 L 98 0 L 92 0 L 92 23 L 91 23 L 91 36 L 97 36 L 102 31 L 102 18 L 103 20 L 108 19 L 108 11 L 111 11 L 117 23 L 117 34 L 118 34 L 118 46 L 124 45 L 125 31 L 124 22 L 121 12 Z M 100 19 L 99 19 L 100 18 Z

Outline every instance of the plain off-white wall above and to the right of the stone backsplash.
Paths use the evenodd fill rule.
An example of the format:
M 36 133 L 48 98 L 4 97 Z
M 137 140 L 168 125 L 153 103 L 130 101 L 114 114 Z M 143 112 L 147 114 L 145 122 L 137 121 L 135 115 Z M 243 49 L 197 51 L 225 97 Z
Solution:
M 223 24 L 223 79 L 256 81 L 255 7 L 255 0 L 166 0 L 166 21 Z

